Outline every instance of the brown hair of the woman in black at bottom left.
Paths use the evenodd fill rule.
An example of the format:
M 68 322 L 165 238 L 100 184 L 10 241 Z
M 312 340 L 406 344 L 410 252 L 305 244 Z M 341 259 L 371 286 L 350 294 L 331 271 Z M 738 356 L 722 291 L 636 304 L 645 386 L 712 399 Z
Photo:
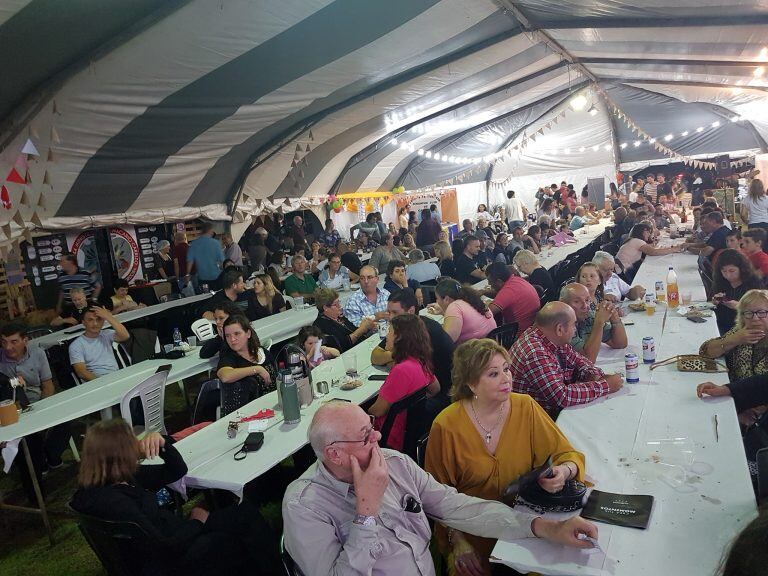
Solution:
M 88 429 L 77 482 L 94 488 L 126 482 L 139 467 L 139 443 L 122 418 L 102 420 Z

